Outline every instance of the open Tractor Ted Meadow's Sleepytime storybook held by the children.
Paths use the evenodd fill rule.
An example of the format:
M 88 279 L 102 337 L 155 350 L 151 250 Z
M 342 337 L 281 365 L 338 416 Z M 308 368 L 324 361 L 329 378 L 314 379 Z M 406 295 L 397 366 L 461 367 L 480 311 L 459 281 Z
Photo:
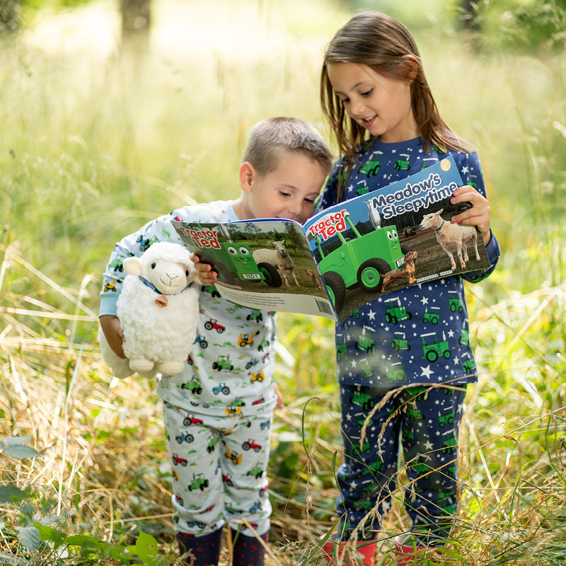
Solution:
M 478 229 L 450 222 L 471 206 L 450 202 L 461 185 L 449 156 L 302 225 L 253 219 L 173 226 L 218 273 L 216 290 L 224 299 L 343 323 L 380 295 L 489 267 Z

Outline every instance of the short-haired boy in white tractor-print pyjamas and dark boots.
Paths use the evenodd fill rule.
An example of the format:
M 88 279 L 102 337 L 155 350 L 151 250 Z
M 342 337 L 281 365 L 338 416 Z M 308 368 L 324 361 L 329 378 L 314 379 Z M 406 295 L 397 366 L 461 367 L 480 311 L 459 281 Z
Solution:
M 302 224 L 313 212 L 332 162 L 330 149 L 307 122 L 287 117 L 258 122 L 244 151 L 236 200 L 177 209 L 115 246 L 100 294 L 100 326 L 112 350 L 123 357 L 115 304 L 124 258 L 141 255 L 148 242 L 180 242 L 172 219 L 221 222 L 267 217 Z M 207 279 L 212 275 L 207 273 L 209 266 L 200 267 L 202 282 L 214 280 Z M 200 566 L 216 566 L 222 527 L 229 524 L 235 539 L 232 564 L 262 566 L 262 541 L 267 541 L 271 513 L 265 472 L 277 403 L 272 383 L 275 313 L 252 318 L 249 308 L 221 299 L 209 287 L 202 287 L 199 302 L 190 364 L 176 376 L 158 376 L 157 383 L 173 462 L 173 520 L 180 552 L 192 553 Z M 253 337 L 243 347 L 238 345 L 242 333 Z M 219 366 L 219 359 L 229 364 Z M 251 363 L 253 374 L 244 369 Z M 258 375 L 262 379 L 254 379 Z M 251 536 L 247 524 L 262 541 Z

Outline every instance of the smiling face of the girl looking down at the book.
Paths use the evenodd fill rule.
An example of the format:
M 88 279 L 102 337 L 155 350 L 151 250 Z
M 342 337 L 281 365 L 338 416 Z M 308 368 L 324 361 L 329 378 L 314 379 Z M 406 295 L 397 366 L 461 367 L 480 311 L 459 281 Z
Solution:
M 367 65 L 327 64 L 328 79 L 348 115 L 385 143 L 418 137 L 410 81 L 388 79 Z

